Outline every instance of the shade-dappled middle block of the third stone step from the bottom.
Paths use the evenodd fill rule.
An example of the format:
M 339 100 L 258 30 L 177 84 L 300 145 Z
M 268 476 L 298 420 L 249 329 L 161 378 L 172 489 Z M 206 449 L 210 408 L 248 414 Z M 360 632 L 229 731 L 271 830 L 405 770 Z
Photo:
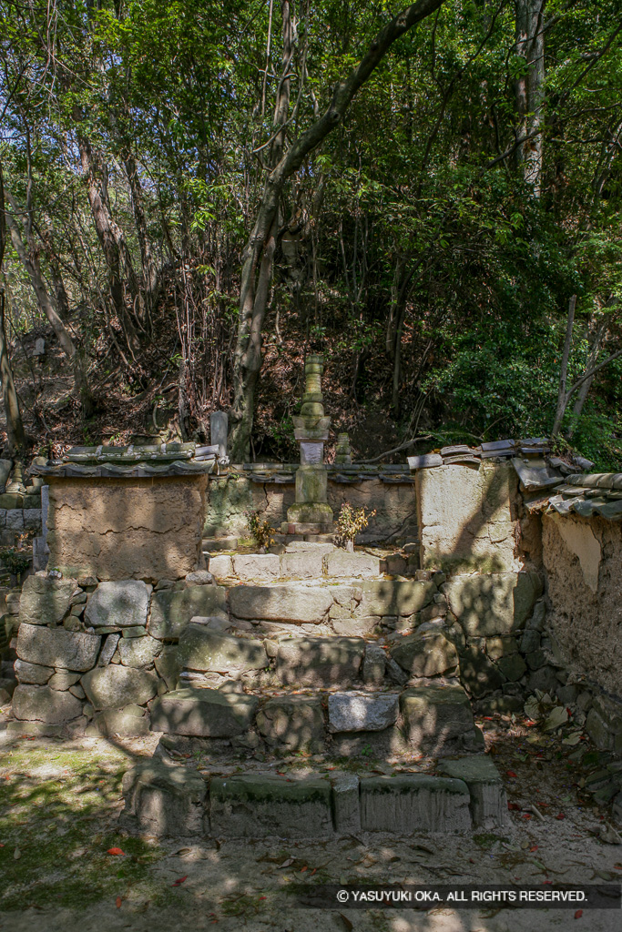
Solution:
M 299 686 L 349 686 L 359 676 L 362 637 L 292 637 L 279 644 L 277 678 Z

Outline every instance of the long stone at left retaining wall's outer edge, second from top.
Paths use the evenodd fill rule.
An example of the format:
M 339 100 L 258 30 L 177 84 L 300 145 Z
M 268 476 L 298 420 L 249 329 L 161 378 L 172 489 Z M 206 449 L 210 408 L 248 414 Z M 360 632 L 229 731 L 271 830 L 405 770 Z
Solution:
M 66 670 L 90 670 L 97 660 L 102 638 L 63 628 L 21 624 L 17 654 L 30 664 L 62 666 Z

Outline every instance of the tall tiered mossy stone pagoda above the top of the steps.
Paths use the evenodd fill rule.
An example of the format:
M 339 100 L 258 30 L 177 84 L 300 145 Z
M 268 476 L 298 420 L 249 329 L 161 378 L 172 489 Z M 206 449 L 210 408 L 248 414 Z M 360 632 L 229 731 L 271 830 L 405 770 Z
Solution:
M 287 510 L 285 534 L 328 534 L 333 529 L 333 511 L 328 504 L 324 445 L 330 418 L 325 418 L 321 356 L 308 356 L 305 363 L 305 393 L 300 414 L 294 419 L 294 436 L 300 444 L 296 473 L 296 503 Z

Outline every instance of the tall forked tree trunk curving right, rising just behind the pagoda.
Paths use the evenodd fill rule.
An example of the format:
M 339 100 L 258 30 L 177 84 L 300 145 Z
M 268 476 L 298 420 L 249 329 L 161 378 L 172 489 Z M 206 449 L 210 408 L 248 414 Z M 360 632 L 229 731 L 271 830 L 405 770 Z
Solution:
M 305 158 L 323 142 L 329 132 L 339 126 L 352 98 L 373 74 L 395 40 L 418 22 L 430 16 L 443 0 L 418 0 L 387 23 L 359 64 L 344 80 L 338 81 L 332 99 L 319 119 L 303 132 L 284 151 L 285 126 L 277 132 L 270 149 L 270 173 L 264 185 L 256 223 L 242 254 L 242 287 L 240 317 L 234 357 L 234 397 L 231 407 L 230 446 L 232 459 L 242 461 L 248 456 L 255 414 L 256 382 L 261 369 L 261 329 L 266 316 L 266 302 L 270 291 L 272 258 L 276 246 L 279 198 L 287 180 L 300 168 Z M 293 46 L 289 3 L 283 2 L 283 62 L 286 49 Z M 287 28 L 290 29 L 289 37 Z M 289 106 L 289 69 L 283 71 L 277 96 L 275 117 L 283 117 Z M 285 101 L 285 96 L 286 101 Z M 286 103 L 286 106 L 284 105 Z

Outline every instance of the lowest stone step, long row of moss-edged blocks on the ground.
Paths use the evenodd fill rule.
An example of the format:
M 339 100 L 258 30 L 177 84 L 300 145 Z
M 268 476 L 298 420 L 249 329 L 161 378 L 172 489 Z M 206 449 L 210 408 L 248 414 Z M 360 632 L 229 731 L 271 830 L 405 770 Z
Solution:
M 124 817 L 159 837 L 321 840 L 503 829 L 507 802 L 492 762 L 478 755 L 450 763 L 453 773 L 443 775 L 223 777 L 154 758 L 124 775 Z

